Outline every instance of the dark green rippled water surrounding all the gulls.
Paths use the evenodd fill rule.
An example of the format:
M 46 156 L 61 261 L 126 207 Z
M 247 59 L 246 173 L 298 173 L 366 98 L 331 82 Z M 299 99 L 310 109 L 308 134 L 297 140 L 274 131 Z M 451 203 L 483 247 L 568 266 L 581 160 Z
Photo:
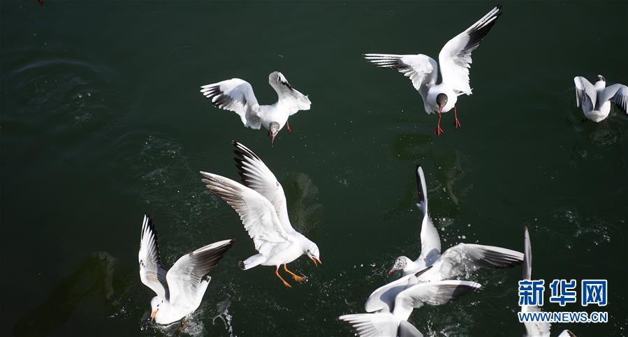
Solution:
M 609 282 L 608 324 L 555 324 L 555 334 L 627 335 L 628 118 L 581 123 L 572 79 L 628 84 L 628 3 L 504 3 L 474 52 L 462 128 L 445 114 L 441 137 L 406 78 L 360 59 L 437 57 L 494 4 L 3 0 L 0 336 L 177 335 L 148 322 L 145 211 L 168 267 L 236 239 L 183 335 L 349 336 L 336 317 L 363 310 L 395 257 L 418 255 L 416 163 L 445 247 L 523 250 L 527 225 L 534 278 Z M 313 103 L 273 148 L 198 93 L 240 77 L 272 103 L 272 70 Z M 253 244 L 198 174 L 235 179 L 233 139 L 275 172 L 294 227 L 321 248 L 323 267 L 292 264 L 307 283 L 288 290 L 272 268 L 238 269 Z M 411 322 L 426 336 L 521 336 L 520 276 L 481 271 L 483 292 Z

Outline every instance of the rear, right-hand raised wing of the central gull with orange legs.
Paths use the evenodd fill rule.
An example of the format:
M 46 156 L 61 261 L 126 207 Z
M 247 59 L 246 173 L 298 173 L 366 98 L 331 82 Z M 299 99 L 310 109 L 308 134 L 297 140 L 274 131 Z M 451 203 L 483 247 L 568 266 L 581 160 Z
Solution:
M 253 151 L 249 150 L 239 142 L 231 142 L 235 147 L 235 166 L 242 178 L 242 184 L 263 195 L 277 212 L 279 220 L 286 232 L 293 232 L 294 228 L 288 218 L 288 208 L 286 207 L 286 195 L 282 184 L 279 184 L 275 174 L 264 164 Z

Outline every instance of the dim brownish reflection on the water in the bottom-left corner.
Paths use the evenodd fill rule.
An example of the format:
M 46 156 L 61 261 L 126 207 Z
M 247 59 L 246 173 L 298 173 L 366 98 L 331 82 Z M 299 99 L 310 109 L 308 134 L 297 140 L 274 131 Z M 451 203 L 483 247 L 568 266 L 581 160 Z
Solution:
M 73 273 L 59 281 L 37 308 L 17 321 L 16 336 L 47 336 L 62 327 L 88 298 L 119 306 L 129 287 L 115 273 L 117 259 L 105 252 L 92 253 Z

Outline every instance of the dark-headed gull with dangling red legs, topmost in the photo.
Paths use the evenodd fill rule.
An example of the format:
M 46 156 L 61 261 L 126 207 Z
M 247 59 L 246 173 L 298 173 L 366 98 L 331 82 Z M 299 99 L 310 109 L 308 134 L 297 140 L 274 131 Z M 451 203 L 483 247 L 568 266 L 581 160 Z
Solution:
M 502 15 L 502 6 L 497 6 L 484 15 L 467 30 L 449 40 L 438 55 L 440 61 L 441 83 L 436 84 L 439 64 L 424 54 L 365 54 L 365 59 L 381 68 L 395 69 L 406 77 L 410 77 L 412 85 L 421 94 L 425 112 L 438 112 L 437 135 L 443 133 L 441 128 L 441 112 L 453 108 L 454 126 L 460 127 L 455 103 L 458 96 L 471 95 L 469 86 L 469 68 L 471 68 L 471 52 L 479 45 L 488 31 Z

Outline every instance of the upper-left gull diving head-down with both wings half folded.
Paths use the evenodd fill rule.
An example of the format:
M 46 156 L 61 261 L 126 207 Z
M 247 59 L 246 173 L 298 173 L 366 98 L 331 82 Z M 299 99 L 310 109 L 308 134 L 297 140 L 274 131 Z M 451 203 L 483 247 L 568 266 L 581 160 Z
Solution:
M 268 130 L 272 144 L 284 125 L 288 126 L 288 132 L 292 133 L 288 117 L 299 110 L 309 110 L 312 103 L 307 96 L 294 89 L 284 74 L 278 71 L 268 75 L 268 83 L 277 91 L 277 102 L 272 105 L 259 105 L 251 84 L 239 78 L 204 85 L 200 87 L 200 92 L 210 99 L 215 107 L 231 110 L 240 115 L 245 127 L 259 130 L 264 126 Z

